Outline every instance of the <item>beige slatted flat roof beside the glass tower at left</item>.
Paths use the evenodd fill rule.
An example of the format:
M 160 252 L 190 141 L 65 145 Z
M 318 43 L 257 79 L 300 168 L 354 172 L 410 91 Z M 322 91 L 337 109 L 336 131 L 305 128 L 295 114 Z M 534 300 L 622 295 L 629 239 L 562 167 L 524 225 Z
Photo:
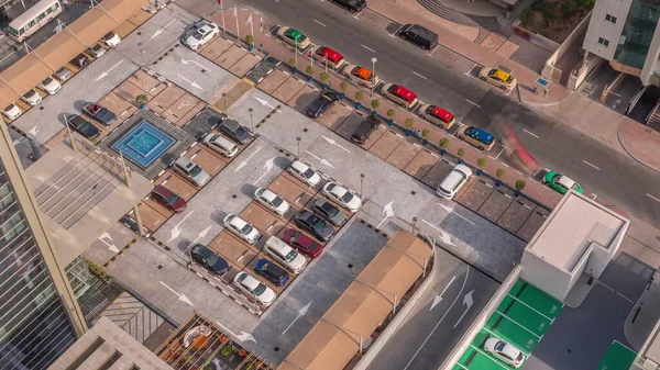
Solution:
M 73 150 L 68 142 L 40 158 L 25 175 L 40 211 L 46 216 L 46 227 L 64 266 L 130 212 L 154 187 L 136 172 L 132 172 L 130 187 L 127 186 L 119 162 Z

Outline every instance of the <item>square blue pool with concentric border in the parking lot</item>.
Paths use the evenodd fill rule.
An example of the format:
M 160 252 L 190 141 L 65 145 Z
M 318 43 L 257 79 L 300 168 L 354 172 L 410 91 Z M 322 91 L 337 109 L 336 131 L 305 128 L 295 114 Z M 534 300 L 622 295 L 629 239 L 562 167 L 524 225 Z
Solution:
M 123 135 L 112 148 L 142 168 L 158 159 L 176 141 L 153 124 L 142 121 Z

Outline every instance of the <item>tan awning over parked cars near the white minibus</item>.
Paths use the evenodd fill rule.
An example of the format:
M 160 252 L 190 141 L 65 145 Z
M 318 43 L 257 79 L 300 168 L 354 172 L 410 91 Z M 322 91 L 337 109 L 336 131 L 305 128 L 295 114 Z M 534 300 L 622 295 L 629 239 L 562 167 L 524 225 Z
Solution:
M 98 42 L 105 34 L 114 30 L 121 22 L 140 11 L 148 0 L 105 0 L 90 9 L 74 23 L 41 46 L 25 55 L 0 74 L 8 87 L 0 86 L 0 109 L 4 109 L 19 96 L 25 94 L 55 70 L 66 65 L 85 48 Z M 51 25 L 46 25 L 50 27 Z M 54 27 L 55 25 L 53 25 Z

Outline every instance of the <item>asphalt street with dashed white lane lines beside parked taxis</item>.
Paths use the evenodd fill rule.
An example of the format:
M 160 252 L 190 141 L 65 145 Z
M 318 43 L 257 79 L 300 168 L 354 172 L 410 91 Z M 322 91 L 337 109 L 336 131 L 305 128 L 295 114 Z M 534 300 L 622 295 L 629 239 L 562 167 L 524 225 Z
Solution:
M 202 0 L 177 2 L 196 9 Z M 271 23 L 300 29 L 316 44 L 339 49 L 351 63 L 370 67 L 375 56 L 376 75 L 382 79 L 408 86 L 422 101 L 449 109 L 465 124 L 494 132 L 494 120 L 508 122 L 544 167 L 573 178 L 587 195 L 593 193 L 604 204 L 618 205 L 649 224 L 660 220 L 660 201 L 651 198 L 660 199 L 660 175 L 568 125 L 530 111 L 516 101 L 515 94 L 507 97 L 466 75 L 473 63 L 462 56 L 440 47 L 429 57 L 392 37 L 399 25 L 371 10 L 355 19 L 328 1 L 241 0 L 240 5 L 262 12 Z

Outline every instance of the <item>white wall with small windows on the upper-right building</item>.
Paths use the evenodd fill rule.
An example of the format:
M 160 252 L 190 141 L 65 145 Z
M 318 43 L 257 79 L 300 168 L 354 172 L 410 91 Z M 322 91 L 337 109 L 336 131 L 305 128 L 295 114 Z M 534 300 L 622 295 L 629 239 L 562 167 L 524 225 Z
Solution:
M 619 43 L 631 2 L 632 0 L 597 0 L 584 36 L 584 49 L 610 61 Z M 608 14 L 616 18 L 615 23 L 606 20 Z M 607 40 L 609 45 L 606 47 L 598 44 L 600 37 Z

